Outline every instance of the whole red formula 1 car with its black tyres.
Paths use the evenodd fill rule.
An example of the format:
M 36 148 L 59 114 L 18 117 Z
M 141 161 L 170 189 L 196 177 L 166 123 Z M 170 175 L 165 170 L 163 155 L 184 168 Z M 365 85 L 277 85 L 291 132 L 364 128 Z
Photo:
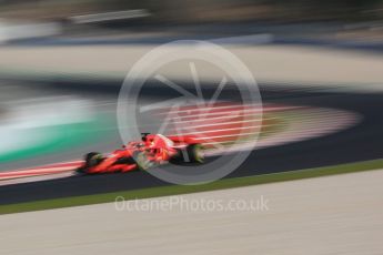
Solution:
M 129 172 L 149 170 L 168 162 L 203 163 L 203 146 L 192 136 L 143 133 L 142 141 L 130 142 L 108 155 L 88 153 L 84 163 L 77 172 L 81 174 Z

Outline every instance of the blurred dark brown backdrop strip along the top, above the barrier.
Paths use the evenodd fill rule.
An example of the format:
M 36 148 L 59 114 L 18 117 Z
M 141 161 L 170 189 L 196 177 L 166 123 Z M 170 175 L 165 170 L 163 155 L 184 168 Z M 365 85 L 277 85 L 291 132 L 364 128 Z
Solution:
M 0 38 L 273 32 L 377 40 L 382 17 L 381 0 L 2 0 Z

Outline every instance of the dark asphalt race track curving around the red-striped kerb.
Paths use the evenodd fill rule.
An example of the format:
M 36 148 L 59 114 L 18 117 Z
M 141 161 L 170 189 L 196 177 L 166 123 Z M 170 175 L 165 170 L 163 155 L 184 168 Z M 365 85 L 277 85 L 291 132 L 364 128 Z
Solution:
M 72 84 L 59 90 L 78 90 Z M 107 88 L 107 86 L 105 86 Z M 101 89 L 109 96 L 118 88 Z M 351 163 L 383 156 L 383 94 L 326 93 L 308 90 L 270 90 L 261 84 L 263 102 L 312 105 L 354 111 L 363 115 L 360 124 L 324 137 L 253 151 L 246 161 L 226 177 L 242 177 Z M 81 86 L 87 91 L 87 86 Z M 98 94 L 99 92 L 92 92 Z M 153 93 L 155 94 L 155 93 Z M 107 192 L 169 185 L 144 172 L 71 176 L 59 180 L 0 186 L 0 204 L 90 195 Z

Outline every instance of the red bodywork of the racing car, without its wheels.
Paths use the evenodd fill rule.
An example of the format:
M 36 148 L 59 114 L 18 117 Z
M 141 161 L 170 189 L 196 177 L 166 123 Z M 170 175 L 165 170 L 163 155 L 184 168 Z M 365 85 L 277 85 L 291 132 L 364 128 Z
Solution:
M 141 142 L 130 142 L 122 149 L 115 150 L 100 159 L 100 163 L 87 167 L 87 173 L 129 172 L 138 169 L 134 155 L 145 153 L 147 159 L 155 164 L 169 162 L 179 155 L 180 151 L 189 144 L 195 144 L 193 136 L 164 136 L 161 134 L 148 134 Z M 87 163 L 84 163 L 87 164 Z M 80 167 L 81 169 L 81 167 Z

